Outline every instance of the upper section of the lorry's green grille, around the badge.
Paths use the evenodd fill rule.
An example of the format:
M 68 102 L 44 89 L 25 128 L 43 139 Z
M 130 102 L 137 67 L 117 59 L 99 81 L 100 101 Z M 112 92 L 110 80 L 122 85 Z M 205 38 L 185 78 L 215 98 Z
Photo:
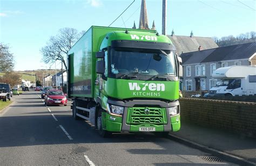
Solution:
M 149 107 L 149 113 L 146 114 L 145 107 L 133 107 L 132 116 L 163 116 L 162 109 Z

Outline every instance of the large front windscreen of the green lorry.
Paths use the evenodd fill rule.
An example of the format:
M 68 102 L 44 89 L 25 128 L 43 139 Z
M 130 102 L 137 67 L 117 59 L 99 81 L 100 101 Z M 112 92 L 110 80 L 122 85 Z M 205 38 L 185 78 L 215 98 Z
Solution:
M 116 50 L 111 49 L 111 74 L 173 75 L 176 76 L 173 51 L 163 50 Z

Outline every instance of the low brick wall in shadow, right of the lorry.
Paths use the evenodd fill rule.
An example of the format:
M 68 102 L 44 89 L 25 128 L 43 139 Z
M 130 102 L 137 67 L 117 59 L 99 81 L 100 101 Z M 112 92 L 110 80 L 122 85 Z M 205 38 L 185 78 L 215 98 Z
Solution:
M 256 103 L 181 98 L 181 120 L 256 137 Z

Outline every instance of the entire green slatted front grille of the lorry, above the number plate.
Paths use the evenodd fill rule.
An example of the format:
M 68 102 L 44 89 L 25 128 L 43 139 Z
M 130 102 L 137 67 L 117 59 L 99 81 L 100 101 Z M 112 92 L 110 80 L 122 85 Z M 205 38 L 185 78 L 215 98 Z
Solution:
M 159 107 L 132 107 L 131 124 L 164 124 L 164 109 Z

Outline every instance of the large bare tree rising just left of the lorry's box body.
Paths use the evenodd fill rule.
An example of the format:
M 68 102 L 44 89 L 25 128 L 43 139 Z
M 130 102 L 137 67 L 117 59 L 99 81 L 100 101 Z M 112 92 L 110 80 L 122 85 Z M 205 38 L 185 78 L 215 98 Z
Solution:
M 60 60 L 63 62 L 65 69 L 67 69 L 66 56 L 80 36 L 81 34 L 74 28 L 61 28 L 59 33 L 51 37 L 46 46 L 41 48 L 43 62 L 53 63 L 56 60 Z

